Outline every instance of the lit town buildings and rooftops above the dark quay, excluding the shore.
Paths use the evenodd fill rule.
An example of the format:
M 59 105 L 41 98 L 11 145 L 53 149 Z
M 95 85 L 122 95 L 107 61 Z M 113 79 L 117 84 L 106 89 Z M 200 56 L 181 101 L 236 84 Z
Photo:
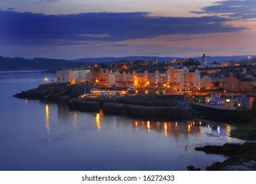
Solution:
M 252 94 L 256 90 L 255 61 L 217 62 L 207 64 L 205 55 L 201 62 L 189 59 L 158 63 L 152 61 L 120 62 L 103 68 L 99 64 L 89 69 L 62 69 L 57 71 L 57 83 L 88 84 L 94 87 L 119 87 L 143 89 L 143 93 L 222 91 Z M 106 65 L 106 64 L 105 64 Z M 136 90 L 138 93 L 138 90 Z M 141 91 L 142 93 L 142 91 Z

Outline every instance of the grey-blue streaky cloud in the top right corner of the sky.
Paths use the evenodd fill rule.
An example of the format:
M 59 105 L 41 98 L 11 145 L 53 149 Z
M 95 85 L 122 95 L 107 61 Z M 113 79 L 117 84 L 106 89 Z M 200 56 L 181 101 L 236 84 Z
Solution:
M 256 1 L 255 0 L 230 0 L 218 1 L 209 7 L 203 7 L 202 11 L 194 13 L 212 13 L 222 14 L 235 19 L 256 18 Z

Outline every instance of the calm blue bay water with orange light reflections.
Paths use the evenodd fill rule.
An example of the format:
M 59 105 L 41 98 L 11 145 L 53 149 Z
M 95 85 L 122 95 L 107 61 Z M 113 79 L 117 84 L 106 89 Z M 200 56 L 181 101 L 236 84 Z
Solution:
M 161 122 L 68 110 L 66 103 L 16 99 L 55 75 L 0 72 L 0 170 L 205 170 L 226 159 L 194 147 L 240 141 L 232 126 Z

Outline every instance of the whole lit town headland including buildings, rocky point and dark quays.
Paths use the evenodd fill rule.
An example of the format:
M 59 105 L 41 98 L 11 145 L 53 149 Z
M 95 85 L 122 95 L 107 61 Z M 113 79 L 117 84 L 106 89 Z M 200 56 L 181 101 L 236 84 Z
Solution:
M 37 89 L 14 97 L 69 100 L 80 111 L 128 116 L 195 116 L 230 122 L 255 118 L 255 59 L 207 63 L 189 58 L 158 63 L 120 61 L 57 70 L 56 82 L 45 78 Z M 218 119 L 217 119 L 218 118 Z

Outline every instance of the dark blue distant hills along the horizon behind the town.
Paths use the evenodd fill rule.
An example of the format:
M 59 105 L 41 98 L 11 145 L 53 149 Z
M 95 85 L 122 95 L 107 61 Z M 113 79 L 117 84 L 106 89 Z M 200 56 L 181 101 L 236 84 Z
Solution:
M 135 61 L 135 60 L 150 60 L 157 58 L 158 62 L 171 61 L 171 60 L 188 60 L 188 58 L 178 57 L 105 57 L 105 58 L 80 58 L 74 60 L 61 60 L 55 58 L 22 58 L 22 57 L 1 57 L 0 56 L 0 71 L 5 70 L 57 70 L 60 68 L 81 68 L 88 64 L 94 63 L 116 63 L 122 60 Z M 251 61 L 254 62 L 255 55 L 251 56 Z M 201 62 L 201 57 L 195 57 Z M 212 62 L 247 62 L 247 56 L 232 56 L 232 57 L 206 57 L 207 63 Z

